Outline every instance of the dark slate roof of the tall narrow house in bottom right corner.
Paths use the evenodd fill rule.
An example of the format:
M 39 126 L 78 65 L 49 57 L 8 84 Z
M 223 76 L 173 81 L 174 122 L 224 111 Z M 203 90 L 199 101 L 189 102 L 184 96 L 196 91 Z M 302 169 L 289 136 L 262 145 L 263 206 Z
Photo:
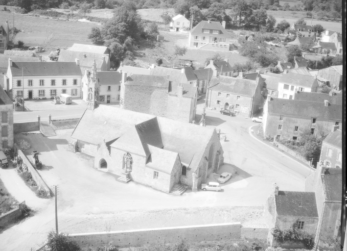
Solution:
M 326 168 L 321 175 L 325 201 L 341 201 L 342 197 L 342 169 Z

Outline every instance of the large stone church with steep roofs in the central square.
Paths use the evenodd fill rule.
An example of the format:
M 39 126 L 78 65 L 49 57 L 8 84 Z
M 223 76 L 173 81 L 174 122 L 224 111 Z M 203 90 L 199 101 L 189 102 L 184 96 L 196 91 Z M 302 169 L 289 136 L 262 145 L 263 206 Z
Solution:
M 93 156 L 97 169 L 169 193 L 179 183 L 197 191 L 223 163 L 215 129 L 96 106 L 82 115 L 69 149 Z

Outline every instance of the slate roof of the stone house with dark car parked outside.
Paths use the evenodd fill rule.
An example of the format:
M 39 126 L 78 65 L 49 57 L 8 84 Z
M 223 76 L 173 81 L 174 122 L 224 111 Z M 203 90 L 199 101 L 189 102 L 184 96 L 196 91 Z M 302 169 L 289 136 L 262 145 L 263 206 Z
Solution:
M 208 89 L 253 97 L 256 87 L 252 80 L 218 75 L 211 78 Z

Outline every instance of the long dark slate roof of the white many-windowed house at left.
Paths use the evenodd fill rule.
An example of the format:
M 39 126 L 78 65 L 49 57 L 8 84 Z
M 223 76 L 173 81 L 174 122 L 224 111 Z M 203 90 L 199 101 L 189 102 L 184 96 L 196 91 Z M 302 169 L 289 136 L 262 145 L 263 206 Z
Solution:
M 59 76 L 82 75 L 81 68 L 75 62 L 12 62 L 13 76 Z

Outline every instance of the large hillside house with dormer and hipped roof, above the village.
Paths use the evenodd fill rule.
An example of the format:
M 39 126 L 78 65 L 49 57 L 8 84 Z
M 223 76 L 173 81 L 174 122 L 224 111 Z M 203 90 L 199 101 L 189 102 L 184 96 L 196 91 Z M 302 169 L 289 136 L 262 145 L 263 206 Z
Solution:
M 189 31 L 189 47 L 204 50 L 229 51 L 231 36 L 225 29 L 225 21 L 219 22 L 201 21 Z

